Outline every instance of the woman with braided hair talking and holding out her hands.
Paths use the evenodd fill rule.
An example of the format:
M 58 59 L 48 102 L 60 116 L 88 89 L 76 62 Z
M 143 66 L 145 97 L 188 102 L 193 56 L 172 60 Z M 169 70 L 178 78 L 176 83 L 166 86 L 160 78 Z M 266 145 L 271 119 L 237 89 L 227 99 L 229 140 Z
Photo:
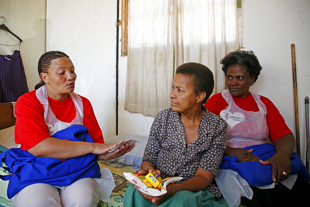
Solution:
M 98 165 L 94 161 L 95 159 L 113 159 L 129 152 L 134 147 L 134 145 L 129 147 L 126 144 L 114 152 L 108 152 L 116 144 L 104 144 L 102 131 L 91 103 L 88 99 L 73 92 L 77 75 L 68 55 L 60 51 L 50 51 L 43 54 L 38 61 L 38 73 L 42 81 L 35 87 L 36 90 L 22 95 L 17 100 L 15 107 L 17 116 L 15 142 L 21 145 L 21 150 L 28 151 L 31 154 L 29 157 L 56 158 L 60 164 L 63 164 L 70 159 L 92 155 L 91 162 Z M 92 139 L 90 142 L 81 141 L 81 137 L 74 141 L 68 137 L 55 136 L 68 127 L 74 128 L 77 125 L 84 127 L 82 129 L 86 131 L 85 134 L 88 134 L 87 136 Z M 78 166 L 71 164 L 69 170 L 84 165 L 84 161 L 71 163 Z M 36 168 L 38 165 L 34 166 Z M 38 175 L 45 173 L 47 178 L 52 173 L 63 173 L 53 172 L 54 166 L 49 166 L 47 172 L 44 171 L 43 173 L 41 167 L 38 166 L 38 169 L 35 170 L 41 170 Z M 85 168 L 88 167 L 85 166 Z M 99 166 L 95 166 L 95 168 L 99 170 Z M 76 171 L 68 173 L 65 179 L 72 179 L 71 177 L 81 170 Z M 91 173 L 90 171 L 87 172 Z M 99 202 L 99 189 L 93 177 L 100 178 L 100 176 L 82 177 L 86 177 L 85 173 L 80 173 L 79 177 L 70 180 L 71 184 L 69 185 L 61 182 L 59 184 L 47 184 L 51 179 L 48 182 L 34 182 L 34 184 L 24 188 L 20 187 L 22 189 L 19 192 L 14 192 L 11 195 L 15 194 L 11 201 L 14 206 L 25 204 L 32 206 L 96 206 Z M 31 178 L 31 182 L 33 179 Z

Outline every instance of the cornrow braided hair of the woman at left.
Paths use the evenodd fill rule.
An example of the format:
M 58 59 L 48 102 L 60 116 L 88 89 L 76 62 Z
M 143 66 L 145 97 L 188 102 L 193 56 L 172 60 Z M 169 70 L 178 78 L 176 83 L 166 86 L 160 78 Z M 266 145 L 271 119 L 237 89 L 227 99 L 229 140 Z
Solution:
M 43 55 L 41 55 L 41 57 L 38 61 L 39 76 L 41 73 L 47 73 L 47 68 L 51 64 L 52 59 L 61 58 L 61 57 L 69 58 L 69 56 L 67 54 L 60 52 L 60 51 L 49 51 L 49 52 L 46 52 Z M 40 78 L 41 78 L 41 76 L 40 76 Z M 41 81 L 34 87 L 34 89 L 37 90 L 38 88 L 40 88 L 41 86 L 44 86 L 44 85 L 45 85 L 45 82 Z

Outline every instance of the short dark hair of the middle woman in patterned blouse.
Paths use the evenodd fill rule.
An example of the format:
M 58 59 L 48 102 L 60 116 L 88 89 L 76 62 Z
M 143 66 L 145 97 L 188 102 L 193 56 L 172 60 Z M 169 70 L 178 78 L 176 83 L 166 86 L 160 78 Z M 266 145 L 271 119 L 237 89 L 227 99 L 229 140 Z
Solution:
M 201 103 L 207 102 L 214 88 L 213 73 L 208 67 L 200 63 L 184 63 L 176 69 L 175 74 L 191 76 L 194 93 L 205 91 L 206 98 Z

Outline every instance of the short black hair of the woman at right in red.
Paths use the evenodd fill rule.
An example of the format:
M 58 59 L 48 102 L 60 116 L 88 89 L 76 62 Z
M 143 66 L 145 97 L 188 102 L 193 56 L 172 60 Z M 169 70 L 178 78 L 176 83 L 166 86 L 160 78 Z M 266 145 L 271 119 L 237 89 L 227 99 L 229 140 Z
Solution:
M 243 51 L 236 50 L 228 53 L 225 57 L 220 61 L 222 66 L 222 70 L 227 75 L 227 70 L 232 65 L 244 65 L 246 67 L 246 71 L 250 73 L 250 77 L 255 77 L 254 82 L 258 79 L 260 71 L 262 70 L 262 66 L 259 64 L 259 61 L 253 51 Z

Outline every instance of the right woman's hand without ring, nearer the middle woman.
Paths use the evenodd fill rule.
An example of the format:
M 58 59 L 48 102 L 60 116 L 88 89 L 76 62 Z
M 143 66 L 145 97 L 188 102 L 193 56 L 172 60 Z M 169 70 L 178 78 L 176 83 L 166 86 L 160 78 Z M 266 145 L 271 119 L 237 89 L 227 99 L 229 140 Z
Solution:
M 243 149 L 243 148 L 231 148 L 226 147 L 226 150 L 224 152 L 224 155 L 232 157 L 237 157 L 237 162 L 255 162 L 255 161 L 261 161 L 257 156 L 252 154 L 253 149 Z

